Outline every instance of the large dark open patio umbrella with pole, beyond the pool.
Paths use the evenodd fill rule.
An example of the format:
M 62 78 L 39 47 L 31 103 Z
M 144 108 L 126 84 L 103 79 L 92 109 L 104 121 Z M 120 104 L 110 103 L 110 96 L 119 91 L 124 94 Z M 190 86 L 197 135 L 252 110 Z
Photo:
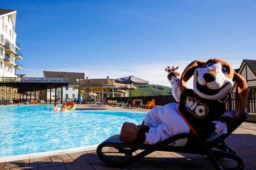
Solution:
M 127 77 L 117 78 L 117 79 L 115 79 L 115 82 L 130 85 L 129 98 L 131 97 L 131 88 L 132 88 L 133 84 L 138 84 L 138 85 L 147 85 L 148 84 L 148 81 L 143 80 L 143 79 L 138 78 L 138 77 L 134 77 L 134 76 L 127 76 Z M 135 88 L 135 86 L 134 86 L 134 88 Z M 129 100 L 129 104 L 131 105 L 131 100 Z

